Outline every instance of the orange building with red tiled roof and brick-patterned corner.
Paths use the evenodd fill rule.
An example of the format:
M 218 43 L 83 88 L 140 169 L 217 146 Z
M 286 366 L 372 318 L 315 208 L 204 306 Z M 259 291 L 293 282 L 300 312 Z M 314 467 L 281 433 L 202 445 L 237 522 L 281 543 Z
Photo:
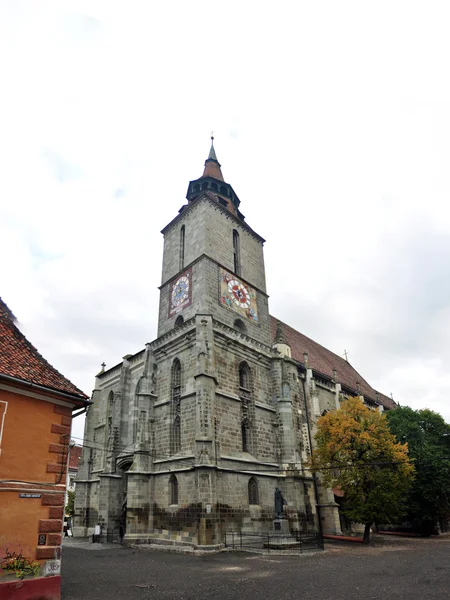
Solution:
M 2 600 L 60 597 L 70 429 L 74 411 L 87 404 L 87 396 L 30 344 L 0 298 Z M 34 563 L 35 574 L 16 579 L 11 557 Z

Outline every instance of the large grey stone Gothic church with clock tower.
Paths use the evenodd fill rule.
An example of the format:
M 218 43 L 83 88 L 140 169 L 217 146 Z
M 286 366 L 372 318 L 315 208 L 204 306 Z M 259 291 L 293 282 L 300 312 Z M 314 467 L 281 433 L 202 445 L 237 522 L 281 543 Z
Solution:
M 74 535 L 217 547 L 225 532 L 340 534 L 335 493 L 306 462 L 318 417 L 360 396 L 393 400 L 343 358 L 269 313 L 264 239 L 240 211 L 212 143 L 162 230 L 157 338 L 96 377 Z

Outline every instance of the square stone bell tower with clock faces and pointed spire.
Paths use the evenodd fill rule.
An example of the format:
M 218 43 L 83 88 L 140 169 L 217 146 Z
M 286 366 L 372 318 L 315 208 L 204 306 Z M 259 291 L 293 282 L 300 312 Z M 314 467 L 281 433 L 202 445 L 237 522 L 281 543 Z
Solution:
M 158 337 L 196 314 L 209 314 L 270 345 L 265 240 L 247 224 L 225 182 L 214 138 L 203 175 L 189 183 L 186 198 L 162 230 Z

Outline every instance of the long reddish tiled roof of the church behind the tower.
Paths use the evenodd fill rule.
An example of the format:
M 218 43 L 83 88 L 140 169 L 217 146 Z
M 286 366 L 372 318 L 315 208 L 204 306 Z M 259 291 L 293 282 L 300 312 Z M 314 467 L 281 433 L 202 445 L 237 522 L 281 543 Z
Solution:
M 303 354 L 307 352 L 308 366 L 311 369 L 330 379 L 333 378 L 333 369 L 336 369 L 336 377 L 341 385 L 348 388 L 349 391 L 353 391 L 355 394 L 358 393 L 359 390 L 360 394 L 376 402 L 377 392 L 344 358 L 327 350 L 327 348 L 324 348 L 314 340 L 306 337 L 303 333 L 289 327 L 289 325 L 278 321 L 278 319 L 275 319 L 274 317 L 270 317 L 270 319 L 272 339 L 275 338 L 277 325 L 279 323 L 287 343 L 291 347 L 292 358 L 294 360 L 304 364 Z M 389 398 L 384 394 L 378 393 L 378 400 L 385 408 L 394 408 L 396 406 L 392 398 Z

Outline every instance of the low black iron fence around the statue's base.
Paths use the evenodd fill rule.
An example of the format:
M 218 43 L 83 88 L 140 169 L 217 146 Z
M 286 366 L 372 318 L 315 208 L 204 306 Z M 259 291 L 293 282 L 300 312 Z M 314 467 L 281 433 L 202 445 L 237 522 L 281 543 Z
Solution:
M 258 552 L 276 552 L 277 554 L 302 554 L 314 550 L 323 550 L 323 537 L 319 533 L 294 532 L 290 535 L 280 533 L 253 534 L 242 531 L 226 531 L 223 535 L 226 548 Z

